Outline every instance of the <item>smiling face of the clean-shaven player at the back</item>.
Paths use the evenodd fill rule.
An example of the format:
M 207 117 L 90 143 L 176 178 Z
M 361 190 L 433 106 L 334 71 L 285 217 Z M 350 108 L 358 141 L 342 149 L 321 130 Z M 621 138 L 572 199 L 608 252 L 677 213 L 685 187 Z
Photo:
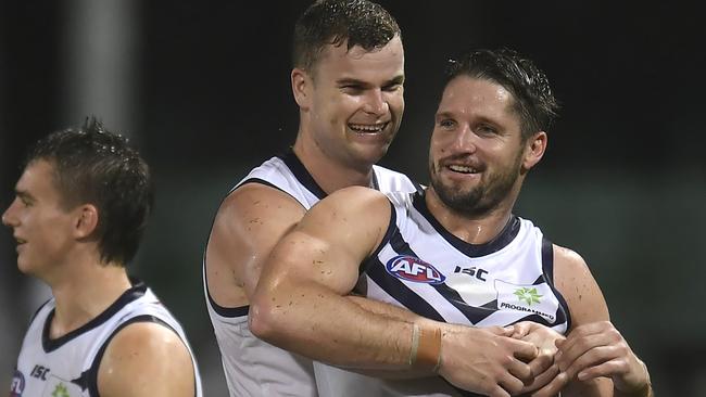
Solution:
M 370 52 L 328 46 L 313 73 L 308 128 L 317 148 L 353 167 L 377 163 L 400 128 L 403 82 L 399 37 Z

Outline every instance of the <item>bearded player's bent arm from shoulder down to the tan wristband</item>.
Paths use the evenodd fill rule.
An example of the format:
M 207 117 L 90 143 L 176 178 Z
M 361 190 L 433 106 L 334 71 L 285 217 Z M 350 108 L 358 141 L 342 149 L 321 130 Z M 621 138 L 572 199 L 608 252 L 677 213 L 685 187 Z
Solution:
M 250 308 L 251 331 L 336 366 L 404 367 L 398 337 L 411 335 L 412 325 L 348 298 L 361 262 L 384 236 L 391 210 L 384 195 L 365 188 L 342 189 L 318 202 L 263 267 Z

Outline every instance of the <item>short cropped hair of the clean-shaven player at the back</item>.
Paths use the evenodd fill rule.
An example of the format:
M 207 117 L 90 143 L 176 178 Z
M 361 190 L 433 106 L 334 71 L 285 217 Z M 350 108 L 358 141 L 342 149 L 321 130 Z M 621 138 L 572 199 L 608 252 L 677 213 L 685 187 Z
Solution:
M 292 63 L 305 71 L 318 62 L 324 47 L 360 46 L 367 51 L 384 47 L 400 26 L 380 4 L 368 0 L 318 0 L 304 11 L 294 25 Z

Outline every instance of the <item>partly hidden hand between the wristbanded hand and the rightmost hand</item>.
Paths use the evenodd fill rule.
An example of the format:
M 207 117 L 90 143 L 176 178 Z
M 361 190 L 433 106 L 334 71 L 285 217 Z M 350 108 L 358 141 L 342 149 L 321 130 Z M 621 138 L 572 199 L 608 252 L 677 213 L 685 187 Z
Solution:
M 558 350 L 556 341 L 564 341 L 564 335 L 537 322 L 522 321 L 507 326 L 512 330 L 510 336 L 530 342 L 539 349 L 538 356 L 529 363 L 532 372 L 532 382 L 526 384 L 521 394 L 537 390 L 550 383 L 558 373 L 558 366 L 554 364 L 554 355 Z

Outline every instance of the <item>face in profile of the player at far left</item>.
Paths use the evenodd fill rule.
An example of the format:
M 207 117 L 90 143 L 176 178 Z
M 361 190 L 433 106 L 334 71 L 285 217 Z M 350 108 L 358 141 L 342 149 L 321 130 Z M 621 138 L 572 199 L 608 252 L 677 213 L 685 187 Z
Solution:
M 61 206 L 53 166 L 39 159 L 25 168 L 15 185 L 15 200 L 2 215 L 17 243 L 17 267 L 42 276 L 64 261 L 71 247 L 71 212 Z

